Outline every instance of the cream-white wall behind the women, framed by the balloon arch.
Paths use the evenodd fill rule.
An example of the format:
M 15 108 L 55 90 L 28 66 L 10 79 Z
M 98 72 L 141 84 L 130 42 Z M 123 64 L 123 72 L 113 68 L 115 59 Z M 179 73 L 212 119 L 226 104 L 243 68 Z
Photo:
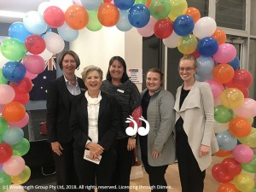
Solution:
M 90 32 L 87 28 L 79 31 L 79 38 L 70 43 L 70 49 L 78 53 L 81 65 L 76 75 L 84 67 L 95 65 L 101 67 L 104 79 L 108 72 L 108 61 L 114 55 L 125 59 L 127 68 L 143 66 L 143 38 L 135 28 L 129 32 L 120 32 L 115 26 L 102 27 L 98 32 Z M 141 90 L 141 84 L 137 84 Z

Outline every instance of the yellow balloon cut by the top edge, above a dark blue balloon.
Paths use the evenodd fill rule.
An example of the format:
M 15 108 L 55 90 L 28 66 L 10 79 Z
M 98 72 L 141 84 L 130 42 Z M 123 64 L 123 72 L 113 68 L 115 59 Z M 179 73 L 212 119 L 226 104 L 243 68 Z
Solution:
M 174 21 L 177 16 L 184 15 L 188 9 L 186 0 L 171 0 L 171 11 L 168 17 Z

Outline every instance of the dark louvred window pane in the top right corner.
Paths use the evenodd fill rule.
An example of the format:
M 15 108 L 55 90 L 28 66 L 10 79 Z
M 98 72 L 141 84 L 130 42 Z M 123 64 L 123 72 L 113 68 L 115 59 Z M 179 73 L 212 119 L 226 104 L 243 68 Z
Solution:
M 217 0 L 216 23 L 232 29 L 245 30 L 246 28 L 246 1 L 245 0 Z

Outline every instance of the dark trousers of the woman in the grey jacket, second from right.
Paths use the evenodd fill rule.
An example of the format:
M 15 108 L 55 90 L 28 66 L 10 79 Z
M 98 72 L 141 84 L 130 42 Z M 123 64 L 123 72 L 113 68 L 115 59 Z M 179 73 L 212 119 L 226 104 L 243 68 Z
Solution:
M 167 192 L 167 183 L 166 183 L 166 166 L 149 166 L 148 157 L 142 156 L 143 165 L 148 173 L 149 183 L 151 186 L 151 191 L 153 192 Z

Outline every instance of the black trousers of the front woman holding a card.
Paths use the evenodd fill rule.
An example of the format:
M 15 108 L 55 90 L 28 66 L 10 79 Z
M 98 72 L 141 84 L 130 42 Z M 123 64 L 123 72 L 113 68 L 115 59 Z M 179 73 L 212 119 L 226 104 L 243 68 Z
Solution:
M 76 150 L 74 151 L 74 162 L 81 191 L 95 191 L 95 186 L 98 186 L 98 192 L 113 191 L 111 178 L 116 164 L 113 148 L 104 151 L 99 165 L 84 160 L 84 152 Z

